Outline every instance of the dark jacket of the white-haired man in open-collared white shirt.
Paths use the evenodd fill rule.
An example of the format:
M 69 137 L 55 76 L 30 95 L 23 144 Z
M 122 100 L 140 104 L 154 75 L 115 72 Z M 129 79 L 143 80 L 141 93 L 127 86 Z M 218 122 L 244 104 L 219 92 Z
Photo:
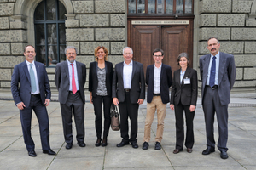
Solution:
M 132 61 L 131 92 L 132 104 L 137 104 L 138 99 L 145 99 L 145 80 L 143 64 Z M 125 90 L 123 81 L 124 62 L 115 65 L 113 73 L 112 97 L 118 98 L 119 102 L 125 101 Z

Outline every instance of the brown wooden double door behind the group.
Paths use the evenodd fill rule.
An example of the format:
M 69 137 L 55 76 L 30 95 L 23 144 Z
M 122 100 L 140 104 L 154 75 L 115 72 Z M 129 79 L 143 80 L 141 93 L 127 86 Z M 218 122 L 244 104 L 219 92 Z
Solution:
M 164 50 L 163 63 L 172 67 L 172 73 L 179 69 L 177 56 L 186 52 L 193 63 L 193 20 L 188 25 L 132 25 L 128 20 L 128 46 L 133 49 L 133 60 L 143 63 L 144 73 L 148 65 L 154 64 L 152 52 L 155 48 Z

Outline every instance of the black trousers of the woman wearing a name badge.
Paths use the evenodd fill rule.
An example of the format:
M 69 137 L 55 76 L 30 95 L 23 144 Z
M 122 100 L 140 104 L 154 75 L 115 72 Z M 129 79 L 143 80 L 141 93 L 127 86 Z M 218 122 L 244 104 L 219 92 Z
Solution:
M 186 140 L 185 146 L 187 148 L 193 148 L 195 139 L 194 139 L 194 130 L 193 130 L 193 120 L 195 116 L 195 111 L 189 111 L 190 105 L 175 105 L 175 118 L 176 118 L 176 149 L 183 150 L 184 143 L 184 120 L 183 120 L 183 111 L 185 111 L 186 118 Z

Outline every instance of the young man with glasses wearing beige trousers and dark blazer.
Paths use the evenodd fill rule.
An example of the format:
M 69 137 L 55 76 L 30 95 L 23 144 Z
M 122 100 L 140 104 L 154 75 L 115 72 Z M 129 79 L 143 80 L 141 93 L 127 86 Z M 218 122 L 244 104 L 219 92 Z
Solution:
M 153 52 L 154 65 L 148 65 L 146 71 L 146 84 L 148 84 L 147 116 L 145 120 L 143 150 L 148 150 L 151 124 L 154 112 L 157 110 L 157 130 L 155 137 L 155 150 L 161 149 L 161 140 L 164 133 L 164 120 L 166 118 L 166 104 L 169 99 L 169 88 L 172 86 L 172 69 L 162 64 L 164 51 L 156 48 Z

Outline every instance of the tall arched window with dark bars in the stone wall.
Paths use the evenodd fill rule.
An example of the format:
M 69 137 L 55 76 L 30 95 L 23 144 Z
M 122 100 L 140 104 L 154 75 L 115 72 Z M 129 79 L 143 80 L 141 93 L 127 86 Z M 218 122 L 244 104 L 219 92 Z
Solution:
M 34 13 L 37 61 L 54 66 L 66 59 L 66 8 L 57 0 L 43 0 Z

